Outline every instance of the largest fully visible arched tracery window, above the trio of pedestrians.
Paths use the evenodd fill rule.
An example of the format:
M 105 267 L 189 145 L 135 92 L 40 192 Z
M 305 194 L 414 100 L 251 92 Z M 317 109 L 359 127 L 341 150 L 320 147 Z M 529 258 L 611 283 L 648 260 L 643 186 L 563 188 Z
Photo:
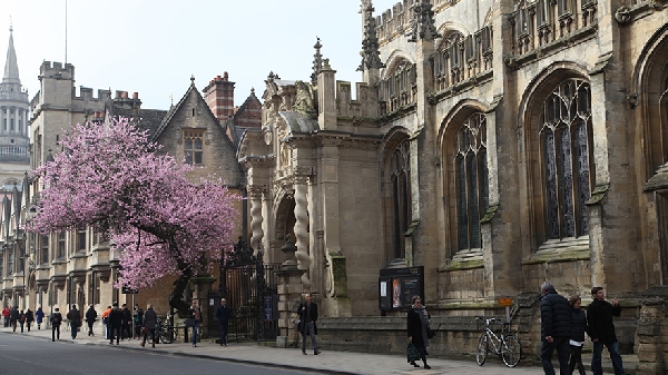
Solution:
M 579 237 L 589 230 L 584 203 L 593 186 L 589 83 L 574 78 L 560 83 L 541 119 L 546 239 Z

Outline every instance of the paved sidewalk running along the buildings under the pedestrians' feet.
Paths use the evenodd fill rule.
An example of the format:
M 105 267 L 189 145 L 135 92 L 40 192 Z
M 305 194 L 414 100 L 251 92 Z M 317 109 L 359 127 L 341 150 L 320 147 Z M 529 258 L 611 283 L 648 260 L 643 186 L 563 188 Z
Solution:
M 422 367 L 414 368 L 409 365 L 405 357 L 400 355 L 382 355 L 355 352 L 334 352 L 322 347 L 322 353 L 313 355 L 313 349 L 308 349 L 307 355 L 303 355 L 298 348 L 277 348 L 272 346 L 258 345 L 257 343 L 229 343 L 223 347 L 213 342 L 203 341 L 193 347 L 186 343 L 157 344 L 155 348 L 150 345 L 141 347 L 137 339 L 121 341 L 119 345 L 109 345 L 109 341 L 101 335 L 88 336 L 87 327 L 82 327 L 76 339 L 71 338 L 67 326 L 63 326 L 60 333 L 60 341 L 53 345 L 78 344 L 97 345 L 108 347 L 110 351 L 145 351 L 156 352 L 173 356 L 189 356 L 207 359 L 227 361 L 234 363 L 257 364 L 264 366 L 274 366 L 279 368 L 293 368 L 303 371 L 313 371 L 321 374 L 365 374 L 365 375 L 387 375 L 387 374 L 541 374 L 542 368 L 536 365 L 520 364 L 514 368 L 508 368 L 500 359 L 489 357 L 483 366 L 478 366 L 475 358 L 470 361 L 432 358 L 428 356 L 431 369 Z M 99 329 L 98 329 L 99 330 Z M 11 328 L 0 327 L 0 333 L 9 335 L 21 335 L 35 339 L 51 341 L 50 329 L 36 329 L 30 332 L 13 333 Z M 181 337 L 183 341 L 183 337 Z M 311 343 L 307 343 L 307 348 Z M 584 355 L 583 362 L 587 366 L 589 358 Z M 635 374 L 637 356 L 625 355 L 625 368 L 628 374 Z M 611 374 L 611 368 L 606 365 L 609 358 L 603 358 L 606 374 Z M 419 364 L 421 364 L 419 362 Z M 421 364 L 422 365 L 422 364 Z M 588 371 L 589 373 L 589 371 Z

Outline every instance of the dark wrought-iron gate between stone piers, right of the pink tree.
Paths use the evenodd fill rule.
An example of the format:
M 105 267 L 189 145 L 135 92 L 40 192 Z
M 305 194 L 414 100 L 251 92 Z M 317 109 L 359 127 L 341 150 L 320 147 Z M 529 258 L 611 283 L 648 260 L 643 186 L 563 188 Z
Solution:
M 262 251 L 253 253 L 239 238 L 233 255 L 220 266 L 218 294 L 227 299 L 233 313 L 227 335 L 230 342 L 275 341 L 279 334 L 278 265 L 265 265 Z

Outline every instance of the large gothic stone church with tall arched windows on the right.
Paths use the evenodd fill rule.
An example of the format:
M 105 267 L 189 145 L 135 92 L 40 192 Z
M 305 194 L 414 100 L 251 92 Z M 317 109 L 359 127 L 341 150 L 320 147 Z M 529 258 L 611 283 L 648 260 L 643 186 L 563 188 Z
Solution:
M 311 80 L 269 75 L 262 130 L 239 146 L 252 244 L 281 258 L 294 235 L 321 339 L 371 334 L 372 349 L 402 352 L 401 303 L 423 292 L 452 330 L 434 352 L 474 352 L 471 316 L 502 315 L 501 297 L 536 351 L 549 279 L 584 305 L 592 286 L 618 296 L 632 351 L 642 290 L 668 283 L 667 4 L 404 0 L 375 13 L 362 0 L 361 13 L 356 98 L 318 40 Z M 405 269 L 423 269 L 423 290 L 383 284 Z M 383 307 L 390 290 L 399 303 Z

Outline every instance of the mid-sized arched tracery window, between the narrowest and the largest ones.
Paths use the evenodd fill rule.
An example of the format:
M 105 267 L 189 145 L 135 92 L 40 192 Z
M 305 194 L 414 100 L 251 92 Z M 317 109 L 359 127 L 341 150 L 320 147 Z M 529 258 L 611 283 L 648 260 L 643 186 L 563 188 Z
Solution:
M 454 139 L 458 250 L 482 248 L 480 219 L 489 207 L 487 124 L 484 114 L 470 116 Z

